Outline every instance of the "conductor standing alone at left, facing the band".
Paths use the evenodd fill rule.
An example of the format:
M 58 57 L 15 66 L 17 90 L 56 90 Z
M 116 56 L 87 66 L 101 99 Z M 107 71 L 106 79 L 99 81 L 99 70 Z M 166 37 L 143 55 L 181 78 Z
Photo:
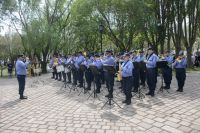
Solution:
M 19 83 L 19 95 L 21 100 L 27 99 L 27 97 L 24 96 L 27 64 L 28 62 L 26 63 L 24 62 L 23 55 L 19 55 L 16 62 L 16 72 L 17 72 L 17 80 Z

